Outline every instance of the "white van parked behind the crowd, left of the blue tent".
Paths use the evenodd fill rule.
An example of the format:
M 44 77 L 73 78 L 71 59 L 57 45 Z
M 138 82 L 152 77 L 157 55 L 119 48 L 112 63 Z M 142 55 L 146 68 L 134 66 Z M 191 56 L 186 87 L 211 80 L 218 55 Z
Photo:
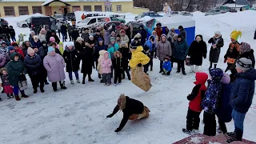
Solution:
M 101 16 L 101 17 L 89 17 L 89 18 L 85 18 L 83 19 L 81 22 L 78 22 L 77 26 L 78 29 L 81 28 L 92 28 L 92 27 L 97 27 L 100 26 L 100 24 L 102 24 L 102 22 L 110 22 L 110 17 L 106 17 L 106 16 Z

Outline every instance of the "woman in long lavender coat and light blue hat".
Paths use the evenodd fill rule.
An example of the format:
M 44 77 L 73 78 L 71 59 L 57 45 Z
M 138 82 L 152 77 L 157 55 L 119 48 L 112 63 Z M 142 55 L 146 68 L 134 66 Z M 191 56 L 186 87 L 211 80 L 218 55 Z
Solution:
M 43 66 L 45 66 L 48 74 L 48 79 L 52 82 L 54 91 L 58 91 L 57 82 L 60 83 L 61 89 L 66 90 L 65 86 L 65 61 L 60 54 L 55 53 L 55 49 L 52 46 L 48 47 L 48 53 L 43 59 Z

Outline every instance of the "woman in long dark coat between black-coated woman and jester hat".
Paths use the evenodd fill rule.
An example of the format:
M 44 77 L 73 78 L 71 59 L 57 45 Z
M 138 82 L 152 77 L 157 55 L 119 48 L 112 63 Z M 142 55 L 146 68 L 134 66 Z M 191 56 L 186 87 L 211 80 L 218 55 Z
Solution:
M 224 46 L 224 40 L 222 38 L 222 34 L 219 31 L 215 32 L 213 38 L 210 38 L 208 43 L 211 43 L 212 46 L 210 47 L 210 67 L 209 70 L 212 68 L 214 63 L 214 68 L 217 68 L 219 54 L 221 54 L 221 48 Z

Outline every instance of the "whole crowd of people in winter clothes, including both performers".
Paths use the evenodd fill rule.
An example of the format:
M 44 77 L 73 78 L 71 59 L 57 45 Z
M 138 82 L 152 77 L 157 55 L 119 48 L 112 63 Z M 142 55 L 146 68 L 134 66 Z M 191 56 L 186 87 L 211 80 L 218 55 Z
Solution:
M 28 41 L 24 41 L 24 34 L 19 34 L 16 42 L 13 27 L 2 26 L 0 29 L 1 87 L 7 98 L 15 98 L 19 101 L 21 100 L 18 96 L 19 91 L 22 98 L 28 98 L 20 87 L 21 77 L 25 74 L 29 75 L 36 94 L 38 87 L 42 93 L 45 92 L 44 86 L 49 84 L 47 78 L 52 82 L 54 91 L 58 91 L 58 82 L 61 89 L 66 90 L 65 68 L 71 84 L 74 84 L 73 73 L 76 82 L 80 83 L 78 70 L 83 74 L 82 84 L 86 83 L 87 76 L 89 82 L 94 82 L 91 74 L 95 68 L 101 83 L 110 86 L 111 79 L 114 78 L 114 86 L 118 86 L 126 75 L 128 80 L 131 80 L 130 68 L 143 67 L 146 74 L 149 70 L 152 71 L 153 58 L 158 58 L 160 61 L 159 73 L 170 75 L 176 62 L 177 73 L 182 72 L 186 75 L 184 65 L 185 60 L 189 59 L 190 72 L 196 72 L 196 82 L 194 82 L 196 86 L 187 96 L 190 105 L 186 117 L 186 129 L 183 129 L 183 132 L 191 134 L 193 130 L 198 130 L 199 115 L 205 110 L 204 134 L 209 136 L 216 134 L 215 114 L 217 114 L 219 129 L 231 138 L 227 142 L 241 141 L 243 121 L 252 103 L 256 79 L 254 50 L 248 43 L 238 42 L 241 31 L 234 30 L 231 33 L 231 42 L 224 57 L 224 62 L 227 62 L 226 71 L 230 70 L 230 75 L 224 74 L 226 71 L 217 68 L 219 55 L 224 46 L 222 34 L 216 31 L 214 37 L 208 41 L 211 44 L 210 79 L 206 86 L 208 75 L 198 72 L 199 66 L 202 66 L 202 59 L 207 56 L 207 46 L 202 35 L 198 34 L 189 46 L 186 42 L 186 30 L 182 26 L 178 27 L 179 34 L 176 34 L 174 28 L 163 32 L 161 23 L 158 23 L 149 38 L 143 25 L 140 26 L 138 34 L 132 34 L 132 29 L 132 26 L 123 26 L 121 30 L 117 30 L 114 25 L 97 27 L 94 31 L 84 28 L 80 35 L 78 30 L 69 24 L 53 23 L 50 28 L 40 26 L 39 30 L 32 30 Z M 62 42 L 60 34 L 62 34 Z M 73 42 L 66 42 L 67 34 Z M 65 47 L 63 42 L 66 42 Z M 118 99 L 118 106 L 107 118 L 111 118 L 118 110 L 124 112 L 124 118 L 116 132 L 122 130 L 128 119 L 147 118 L 150 112 L 142 102 L 125 95 Z M 142 114 L 138 115 L 138 112 Z M 137 114 L 136 118 L 133 114 Z M 130 118 L 131 116 L 133 118 Z M 227 133 L 225 122 L 230 122 L 231 118 L 234 118 L 235 130 L 234 133 Z

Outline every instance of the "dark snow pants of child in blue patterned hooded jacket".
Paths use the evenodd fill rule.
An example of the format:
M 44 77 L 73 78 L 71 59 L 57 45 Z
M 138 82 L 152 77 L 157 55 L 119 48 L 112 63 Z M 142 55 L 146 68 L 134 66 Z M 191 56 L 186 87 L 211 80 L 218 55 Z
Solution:
M 208 136 L 215 136 L 216 135 L 215 114 L 210 114 L 205 111 L 203 113 L 203 122 L 205 123 L 203 134 Z

